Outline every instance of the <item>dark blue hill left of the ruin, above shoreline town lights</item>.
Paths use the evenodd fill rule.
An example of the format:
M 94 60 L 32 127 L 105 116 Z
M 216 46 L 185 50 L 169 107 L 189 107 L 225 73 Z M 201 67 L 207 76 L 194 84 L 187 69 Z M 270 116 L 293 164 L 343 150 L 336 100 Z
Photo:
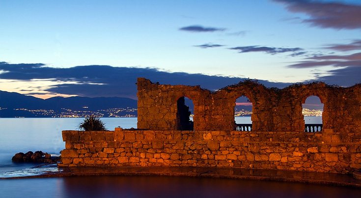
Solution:
M 0 91 L 0 108 L 0 117 L 54 117 L 67 110 L 103 112 L 120 108 L 137 109 L 137 100 L 122 97 L 89 98 L 80 96 L 52 97 L 44 100 L 20 93 Z M 136 111 L 132 112 L 132 115 L 137 115 Z

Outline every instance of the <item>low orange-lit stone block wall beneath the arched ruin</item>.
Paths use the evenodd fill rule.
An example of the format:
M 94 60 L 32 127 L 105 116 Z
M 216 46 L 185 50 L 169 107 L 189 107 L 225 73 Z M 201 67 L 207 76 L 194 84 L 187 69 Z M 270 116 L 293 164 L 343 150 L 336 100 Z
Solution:
M 59 166 L 238 167 L 350 173 L 361 135 L 349 132 L 63 131 Z

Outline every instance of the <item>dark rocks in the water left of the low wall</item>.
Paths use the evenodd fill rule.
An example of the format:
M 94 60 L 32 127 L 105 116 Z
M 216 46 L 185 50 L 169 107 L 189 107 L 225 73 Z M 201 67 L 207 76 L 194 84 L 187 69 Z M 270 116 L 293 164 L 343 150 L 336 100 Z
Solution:
M 32 163 L 56 163 L 59 160 L 57 156 L 51 156 L 51 154 L 43 153 L 42 151 L 36 151 L 33 153 L 29 151 L 28 153 L 17 153 L 11 160 L 13 162 L 32 162 Z

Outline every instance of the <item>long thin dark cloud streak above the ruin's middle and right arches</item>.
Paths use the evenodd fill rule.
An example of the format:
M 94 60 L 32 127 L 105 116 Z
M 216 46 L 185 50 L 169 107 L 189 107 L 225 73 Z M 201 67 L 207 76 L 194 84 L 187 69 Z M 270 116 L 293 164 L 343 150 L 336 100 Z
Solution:
M 268 54 L 275 55 L 284 52 L 294 52 L 292 56 L 305 54 L 305 52 L 301 51 L 303 49 L 300 47 L 283 48 L 283 47 L 266 47 L 266 46 L 252 45 L 252 46 L 231 47 L 229 49 L 238 50 L 238 53 L 266 52 Z

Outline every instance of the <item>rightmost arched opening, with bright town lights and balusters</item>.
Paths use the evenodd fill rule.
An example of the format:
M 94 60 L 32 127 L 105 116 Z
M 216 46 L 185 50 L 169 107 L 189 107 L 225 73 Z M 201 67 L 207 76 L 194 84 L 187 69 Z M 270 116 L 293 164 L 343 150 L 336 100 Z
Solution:
M 324 104 L 318 96 L 308 96 L 302 104 L 302 114 L 305 120 L 305 132 L 322 131 L 322 112 Z

